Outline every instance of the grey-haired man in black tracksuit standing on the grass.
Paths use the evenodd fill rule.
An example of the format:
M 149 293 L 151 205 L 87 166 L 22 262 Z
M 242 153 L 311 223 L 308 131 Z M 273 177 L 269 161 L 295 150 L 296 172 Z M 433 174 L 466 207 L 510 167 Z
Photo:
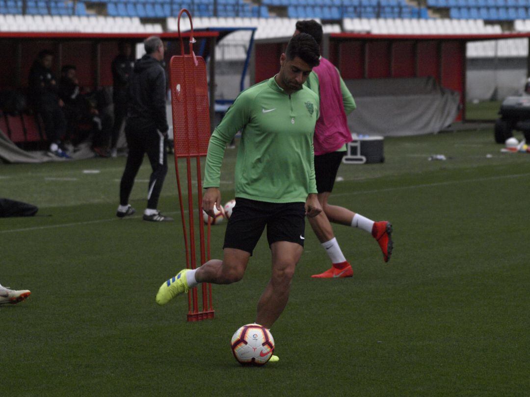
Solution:
M 144 154 L 147 153 L 153 173 L 149 178 L 144 220 L 172 221 L 172 218 L 162 215 L 156 209 L 167 173 L 166 80 L 161 65 L 164 44 L 160 38 L 152 36 L 144 41 L 144 47 L 146 55 L 135 62 L 133 74 L 129 77 L 129 107 L 125 129 L 129 155 L 121 177 L 120 205 L 116 215 L 123 218 L 135 213 L 135 209 L 129 204 L 129 195 Z

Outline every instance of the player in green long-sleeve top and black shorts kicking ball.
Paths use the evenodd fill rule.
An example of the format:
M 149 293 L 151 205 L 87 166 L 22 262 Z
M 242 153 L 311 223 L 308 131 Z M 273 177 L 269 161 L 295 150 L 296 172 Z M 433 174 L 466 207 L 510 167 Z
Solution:
M 270 328 L 287 304 L 291 278 L 304 246 L 305 215 L 316 216 L 313 133 L 319 97 L 304 86 L 319 64 L 319 46 L 308 34 L 292 38 L 280 72 L 243 91 L 213 132 L 206 157 L 202 208 L 220 209 L 220 168 L 226 144 L 242 131 L 235 167 L 236 204 L 226 227 L 223 260 L 181 270 L 162 284 L 158 304 L 198 283 L 231 284 L 243 277 L 264 228 L 272 275 L 258 302 L 256 322 Z

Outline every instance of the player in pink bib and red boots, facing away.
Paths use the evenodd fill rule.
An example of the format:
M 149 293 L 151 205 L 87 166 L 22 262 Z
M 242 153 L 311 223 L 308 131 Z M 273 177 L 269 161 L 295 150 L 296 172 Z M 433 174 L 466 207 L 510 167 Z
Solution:
M 314 20 L 296 22 L 294 35 L 298 33 L 311 34 L 319 46 L 322 43 L 322 25 Z M 323 211 L 309 222 L 332 262 L 330 269 L 312 277 L 351 277 L 354 271 L 342 254 L 330 221 L 371 233 L 383 251 L 385 262 L 392 255 L 392 224 L 374 222 L 344 207 L 328 204 L 346 144 L 352 141 L 346 114 L 354 111 L 356 105 L 339 71 L 325 58 L 320 58 L 320 65 L 313 68 L 305 84 L 320 95 L 320 118 L 316 122 L 313 146 L 317 196 Z

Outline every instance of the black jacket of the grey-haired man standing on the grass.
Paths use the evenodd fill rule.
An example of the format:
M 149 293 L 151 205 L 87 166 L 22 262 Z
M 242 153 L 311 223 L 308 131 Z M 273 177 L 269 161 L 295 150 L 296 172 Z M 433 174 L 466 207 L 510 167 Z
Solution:
M 166 133 L 166 80 L 161 63 L 149 55 L 135 62 L 129 76 L 127 125 L 136 131 Z

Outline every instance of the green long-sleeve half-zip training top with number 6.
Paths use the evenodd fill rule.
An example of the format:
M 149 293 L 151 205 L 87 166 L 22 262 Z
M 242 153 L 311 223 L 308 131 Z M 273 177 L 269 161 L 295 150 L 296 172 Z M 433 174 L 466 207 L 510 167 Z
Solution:
M 288 95 L 274 77 L 237 96 L 210 138 L 204 187 L 219 187 L 226 144 L 242 131 L 235 196 L 270 203 L 305 202 L 316 192 L 313 133 L 319 97 L 311 89 Z

